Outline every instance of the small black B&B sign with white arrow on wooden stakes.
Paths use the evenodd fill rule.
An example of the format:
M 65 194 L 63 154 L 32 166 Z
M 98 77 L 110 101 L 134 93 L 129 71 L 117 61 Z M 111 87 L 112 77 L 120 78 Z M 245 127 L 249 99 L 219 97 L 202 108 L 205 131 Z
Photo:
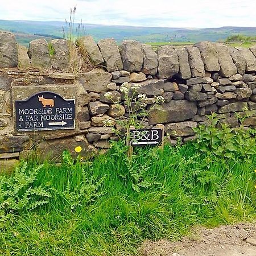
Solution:
M 133 155 L 133 147 L 155 147 L 163 149 L 164 126 L 156 125 L 152 129 L 135 129 L 130 126 L 127 129 L 126 145 L 129 146 L 128 156 Z

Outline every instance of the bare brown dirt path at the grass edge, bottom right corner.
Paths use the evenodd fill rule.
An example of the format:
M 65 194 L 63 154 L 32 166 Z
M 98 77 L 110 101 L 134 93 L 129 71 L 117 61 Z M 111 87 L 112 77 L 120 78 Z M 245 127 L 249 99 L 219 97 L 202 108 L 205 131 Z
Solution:
M 256 224 L 197 228 L 181 241 L 145 241 L 143 256 L 256 256 Z

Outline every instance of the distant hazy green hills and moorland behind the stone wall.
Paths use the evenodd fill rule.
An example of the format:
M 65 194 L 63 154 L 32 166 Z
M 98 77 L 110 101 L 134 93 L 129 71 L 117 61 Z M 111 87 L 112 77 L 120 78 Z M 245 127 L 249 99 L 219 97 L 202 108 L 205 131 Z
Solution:
M 114 38 L 117 42 L 124 39 L 134 39 L 140 42 L 200 42 L 210 40 L 216 42 L 225 40 L 230 35 L 242 34 L 256 36 L 256 27 L 220 27 L 220 28 L 170 28 L 170 27 L 134 27 L 105 26 L 98 24 L 83 24 L 84 35 L 92 35 L 98 41 L 102 38 Z M 75 28 L 78 24 L 75 24 Z M 63 38 L 69 30 L 65 22 L 35 22 L 29 20 L 0 20 L 0 30 L 11 31 L 20 44 L 28 45 L 36 38 Z M 76 29 L 74 29 L 76 36 Z

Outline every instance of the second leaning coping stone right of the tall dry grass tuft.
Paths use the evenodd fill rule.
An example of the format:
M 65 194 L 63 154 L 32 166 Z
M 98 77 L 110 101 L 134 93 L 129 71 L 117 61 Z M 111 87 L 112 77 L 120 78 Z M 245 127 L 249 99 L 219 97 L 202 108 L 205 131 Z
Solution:
M 106 38 L 98 42 L 101 55 L 106 63 L 108 72 L 119 71 L 123 69 L 121 55 L 114 39 Z

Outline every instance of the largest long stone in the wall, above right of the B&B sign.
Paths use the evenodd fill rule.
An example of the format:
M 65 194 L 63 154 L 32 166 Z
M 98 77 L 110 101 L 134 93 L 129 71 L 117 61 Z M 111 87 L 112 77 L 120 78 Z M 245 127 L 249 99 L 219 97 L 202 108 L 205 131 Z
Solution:
M 148 121 L 150 125 L 182 122 L 193 118 L 196 112 L 196 102 L 187 100 L 170 101 L 162 105 L 155 105 L 155 108 L 148 115 Z

